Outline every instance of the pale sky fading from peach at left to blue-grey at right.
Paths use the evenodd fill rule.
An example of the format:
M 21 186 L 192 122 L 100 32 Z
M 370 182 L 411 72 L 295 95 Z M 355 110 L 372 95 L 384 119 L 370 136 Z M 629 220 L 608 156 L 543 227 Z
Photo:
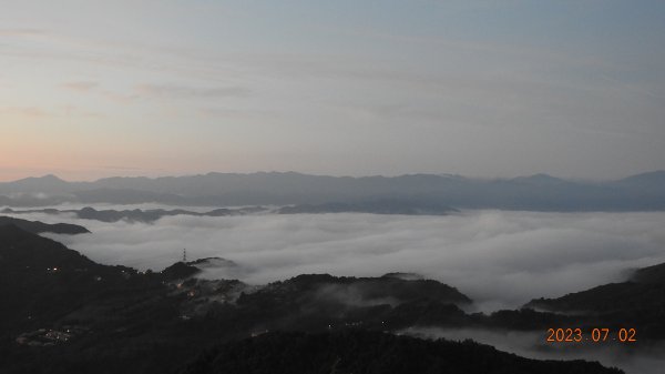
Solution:
M 665 169 L 663 1 L 0 0 L 0 180 Z

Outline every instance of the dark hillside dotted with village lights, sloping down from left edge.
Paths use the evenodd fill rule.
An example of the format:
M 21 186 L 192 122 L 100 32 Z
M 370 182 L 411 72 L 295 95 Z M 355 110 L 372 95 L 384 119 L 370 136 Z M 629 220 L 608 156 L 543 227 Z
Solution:
M 532 310 L 469 314 L 463 311 L 472 303 L 468 296 L 413 274 L 305 274 L 263 286 L 192 277 L 197 266 L 209 262 L 233 264 L 206 259 L 143 273 L 96 264 L 55 241 L 16 225 L 0 226 L 0 372 L 168 373 L 208 352 L 208 356 L 246 357 L 249 361 L 243 362 L 255 365 L 248 368 L 259 373 L 272 360 L 299 352 L 305 344 L 311 347 L 311 355 L 293 353 L 293 360 L 301 361 L 293 364 L 290 373 L 310 372 L 311 367 L 329 373 L 335 362 L 338 373 L 392 373 L 392 368 L 406 373 L 419 367 L 434 373 L 474 373 L 484 367 L 478 366 L 480 363 L 492 363 L 497 373 L 520 373 L 529 367 L 541 373 L 556 368 L 612 373 L 583 362 L 528 361 L 474 343 L 432 343 L 360 332 L 396 333 L 411 326 L 543 331 L 554 323 L 563 325 L 562 319 L 570 316 Z M 649 279 L 655 276 L 653 272 L 648 272 Z M 250 336 L 258 337 L 242 341 Z M 223 348 L 213 348 L 221 343 Z M 270 351 L 273 344 L 278 346 Z M 458 358 L 459 366 L 440 366 Z M 385 360 L 391 364 L 381 364 Z M 418 366 L 419 362 L 424 366 Z M 217 361 L 208 363 L 216 365 Z M 185 371 L 202 367 L 193 365 Z M 228 365 L 227 372 L 242 372 L 242 366 Z

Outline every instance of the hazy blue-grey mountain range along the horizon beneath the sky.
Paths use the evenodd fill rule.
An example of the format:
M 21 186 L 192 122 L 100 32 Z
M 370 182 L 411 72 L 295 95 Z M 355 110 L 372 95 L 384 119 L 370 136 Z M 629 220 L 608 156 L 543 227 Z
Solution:
M 0 183 L 0 205 L 47 206 L 64 202 L 174 205 L 313 205 L 409 201 L 420 206 L 531 211 L 662 211 L 665 171 L 590 182 L 545 174 L 514 179 L 459 175 L 325 176 L 295 172 L 208 173 L 191 176 L 108 178 L 66 182 L 54 175 Z M 330 206 L 327 209 L 338 209 Z

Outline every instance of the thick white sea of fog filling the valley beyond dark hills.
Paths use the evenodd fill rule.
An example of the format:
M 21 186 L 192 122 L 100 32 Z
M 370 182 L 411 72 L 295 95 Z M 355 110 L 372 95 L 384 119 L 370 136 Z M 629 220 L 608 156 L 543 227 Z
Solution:
M 254 284 L 303 273 L 416 272 L 458 287 L 481 311 L 621 281 L 626 269 L 665 262 L 665 213 L 181 215 L 153 224 L 17 216 L 86 226 L 92 234 L 50 236 L 104 264 L 158 271 L 187 249 L 188 260 L 238 264 L 204 276 Z

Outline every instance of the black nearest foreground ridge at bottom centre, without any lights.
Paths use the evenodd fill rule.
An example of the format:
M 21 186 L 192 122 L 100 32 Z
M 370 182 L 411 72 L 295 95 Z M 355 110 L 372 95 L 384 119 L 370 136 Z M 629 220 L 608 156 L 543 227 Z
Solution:
M 202 354 L 180 374 L 622 373 L 584 361 L 523 358 L 474 342 L 423 341 L 381 332 L 266 333 Z

